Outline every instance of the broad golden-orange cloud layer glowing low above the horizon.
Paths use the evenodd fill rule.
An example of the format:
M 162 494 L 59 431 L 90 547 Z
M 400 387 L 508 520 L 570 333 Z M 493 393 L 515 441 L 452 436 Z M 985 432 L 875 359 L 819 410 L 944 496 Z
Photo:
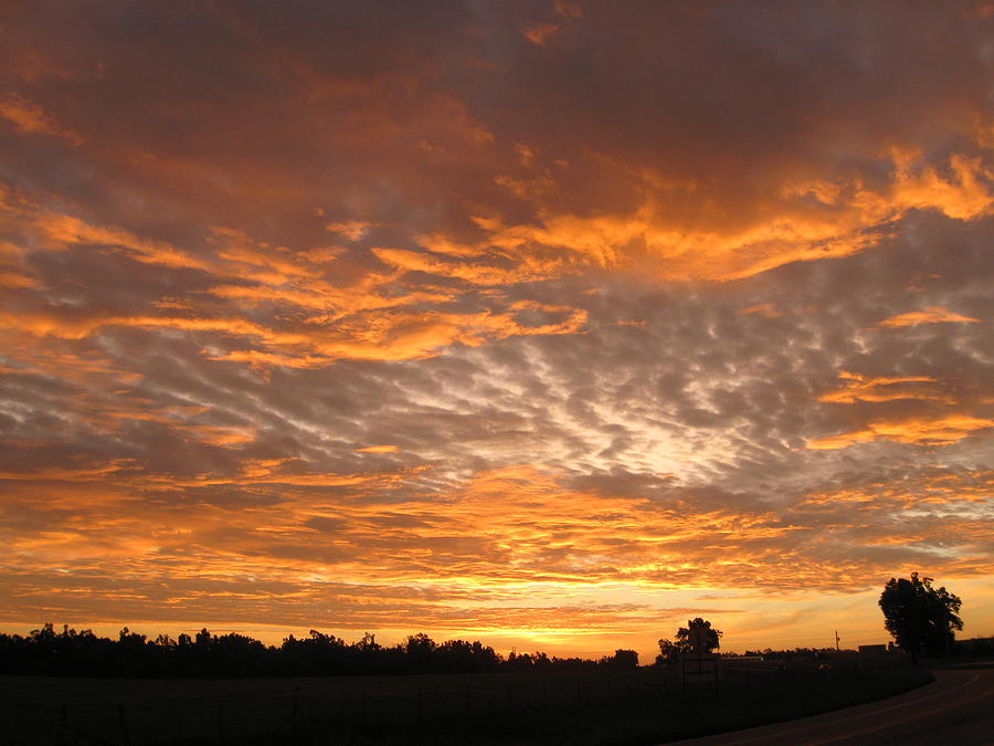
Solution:
M 573 651 L 620 639 L 637 647 L 639 638 L 655 639 L 659 630 L 672 631 L 706 607 L 709 618 L 728 620 L 747 603 L 750 618 L 734 623 L 762 627 L 757 602 L 739 600 L 736 593 L 775 588 L 782 606 L 790 602 L 792 590 L 804 592 L 814 585 L 818 601 L 831 605 L 833 596 L 826 590 L 874 585 L 891 571 L 887 554 L 860 556 L 859 544 L 847 545 L 846 556 L 819 553 L 854 538 L 870 549 L 899 550 L 903 543 L 895 540 L 892 523 L 879 523 L 876 513 L 865 509 L 890 516 L 902 505 L 926 501 L 941 501 L 935 504 L 948 509 L 954 506 L 950 501 L 980 500 L 991 480 L 984 473 L 927 472 L 906 493 L 896 492 L 899 485 L 892 483 L 881 485 L 889 491 L 878 503 L 865 500 L 877 488 L 867 485 L 811 495 L 794 514 L 778 518 L 772 513 L 716 509 L 677 495 L 660 501 L 571 490 L 554 474 L 527 465 L 477 473 L 444 494 L 369 502 L 374 493 L 357 490 L 374 490 L 391 480 L 410 484 L 416 471 L 293 474 L 287 473 L 293 464 L 285 460 L 243 463 L 242 473 L 228 483 L 252 490 L 256 497 L 278 495 L 275 504 L 262 501 L 246 508 L 197 502 L 195 509 L 189 509 L 183 502 L 146 498 L 142 511 L 133 513 L 120 508 L 136 490 L 149 494 L 156 485 L 183 491 L 225 482 L 208 474 L 171 480 L 123 472 L 118 480 L 115 474 L 121 470 L 107 466 L 80 475 L 63 473 L 83 481 L 73 481 L 76 492 L 64 494 L 59 482 L 47 482 L 50 505 L 78 505 L 80 487 L 99 490 L 101 498 L 87 501 L 88 508 L 67 522 L 9 544 L 8 563 L 45 557 L 56 566 L 71 563 L 76 574 L 85 574 L 85 593 L 73 592 L 77 586 L 71 585 L 55 595 L 67 619 L 112 608 L 126 621 L 176 620 L 182 613 L 200 622 L 223 617 L 232 623 L 254 623 L 264 610 L 266 619 L 275 614 L 281 620 L 284 634 L 285 626 L 299 623 L 398 635 L 412 629 L 434 635 L 468 631 L 495 643 L 509 639 L 520 647 L 522 640 L 532 640 L 542 648 Z M 36 503 L 35 485 L 27 482 L 23 490 L 10 491 L 0 511 Z M 328 486 L 352 492 L 347 498 L 319 492 Z M 852 526 L 854 511 L 860 512 L 864 527 Z M 815 516 L 815 524 L 802 523 L 804 516 Z M 988 534 L 971 529 L 969 521 L 944 521 L 961 544 L 990 540 Z M 826 532 L 832 540 L 819 544 L 814 537 Z M 905 529 L 906 542 L 928 535 L 927 525 Z M 305 549 L 295 550 L 299 547 Z M 158 565 L 163 556 L 169 557 L 165 597 Z M 944 577 L 992 570 L 980 556 L 961 553 L 956 563 L 935 569 L 943 569 Z M 21 607 L 32 608 L 66 581 L 57 574 L 45 578 L 44 587 L 35 576 L 15 574 L 8 580 L 18 588 Z M 127 599 L 119 595 L 123 578 L 128 579 Z M 687 606 L 651 603 L 660 592 L 731 585 L 738 590 L 727 603 L 712 598 L 702 606 L 681 596 L 677 598 L 686 598 Z M 620 597 L 637 601 L 618 602 Z M 778 626 L 791 629 L 789 620 Z

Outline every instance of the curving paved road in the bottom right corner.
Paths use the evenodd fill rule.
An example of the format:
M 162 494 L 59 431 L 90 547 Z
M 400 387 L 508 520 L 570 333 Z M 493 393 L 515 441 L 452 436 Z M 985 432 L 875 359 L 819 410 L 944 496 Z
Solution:
M 879 702 L 678 743 L 986 746 L 994 744 L 994 669 L 935 671 L 933 683 Z

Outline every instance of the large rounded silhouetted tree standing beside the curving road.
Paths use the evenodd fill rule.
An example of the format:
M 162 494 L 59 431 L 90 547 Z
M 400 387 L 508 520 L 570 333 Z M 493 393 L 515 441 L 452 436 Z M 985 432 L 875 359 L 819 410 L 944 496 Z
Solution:
M 923 650 L 948 652 L 953 630 L 963 629 L 956 616 L 962 601 L 945 590 L 933 588 L 932 578 L 891 578 L 880 593 L 884 627 L 902 649 L 911 653 L 913 663 Z

